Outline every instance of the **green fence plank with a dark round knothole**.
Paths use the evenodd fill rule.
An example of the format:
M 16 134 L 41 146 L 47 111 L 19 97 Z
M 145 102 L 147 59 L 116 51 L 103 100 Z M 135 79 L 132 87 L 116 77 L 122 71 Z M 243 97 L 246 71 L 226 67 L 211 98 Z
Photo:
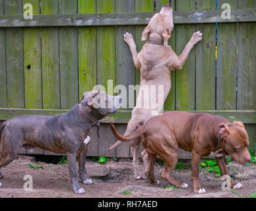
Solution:
M 33 15 L 40 14 L 39 0 L 24 0 L 33 6 Z M 24 13 L 24 10 L 23 10 Z M 42 69 L 40 28 L 24 28 L 24 92 L 26 108 L 42 108 Z

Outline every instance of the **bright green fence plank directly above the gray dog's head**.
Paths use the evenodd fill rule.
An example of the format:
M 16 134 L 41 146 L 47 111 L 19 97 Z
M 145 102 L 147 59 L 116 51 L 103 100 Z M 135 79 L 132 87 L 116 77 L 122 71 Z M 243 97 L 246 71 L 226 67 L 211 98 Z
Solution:
M 97 1 L 97 13 L 115 13 L 115 1 Z M 108 80 L 115 84 L 115 27 L 101 26 L 97 28 L 97 84 L 103 86 L 108 94 Z

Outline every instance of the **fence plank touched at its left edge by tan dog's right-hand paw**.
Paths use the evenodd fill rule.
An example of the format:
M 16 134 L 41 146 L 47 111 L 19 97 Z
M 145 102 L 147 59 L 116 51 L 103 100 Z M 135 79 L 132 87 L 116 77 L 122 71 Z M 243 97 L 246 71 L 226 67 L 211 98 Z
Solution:
M 216 1 L 198 0 L 197 10 L 216 9 Z M 196 109 L 215 109 L 216 24 L 197 24 L 203 40 L 196 45 Z

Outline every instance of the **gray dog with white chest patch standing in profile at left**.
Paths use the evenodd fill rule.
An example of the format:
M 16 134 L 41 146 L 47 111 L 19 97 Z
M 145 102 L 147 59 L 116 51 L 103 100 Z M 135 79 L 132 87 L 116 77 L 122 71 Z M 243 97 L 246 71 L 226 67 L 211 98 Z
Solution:
M 28 150 L 37 147 L 65 153 L 73 190 L 75 193 L 84 193 L 77 179 L 76 157 L 79 157 L 79 176 L 82 183 L 93 183 L 84 172 L 91 129 L 99 127 L 100 119 L 115 113 L 120 107 L 120 96 L 108 96 L 105 92 L 96 90 L 84 92 L 81 104 L 77 104 L 67 113 L 53 117 L 21 115 L 5 121 L 0 126 L 0 168 L 15 160 L 22 146 Z

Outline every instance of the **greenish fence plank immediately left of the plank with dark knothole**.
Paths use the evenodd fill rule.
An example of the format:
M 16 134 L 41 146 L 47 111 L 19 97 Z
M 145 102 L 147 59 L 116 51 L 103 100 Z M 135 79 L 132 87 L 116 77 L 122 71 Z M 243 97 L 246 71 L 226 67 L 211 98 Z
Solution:
M 5 1 L 5 15 L 21 15 L 22 1 Z M 5 29 L 7 106 L 24 107 L 22 28 Z

